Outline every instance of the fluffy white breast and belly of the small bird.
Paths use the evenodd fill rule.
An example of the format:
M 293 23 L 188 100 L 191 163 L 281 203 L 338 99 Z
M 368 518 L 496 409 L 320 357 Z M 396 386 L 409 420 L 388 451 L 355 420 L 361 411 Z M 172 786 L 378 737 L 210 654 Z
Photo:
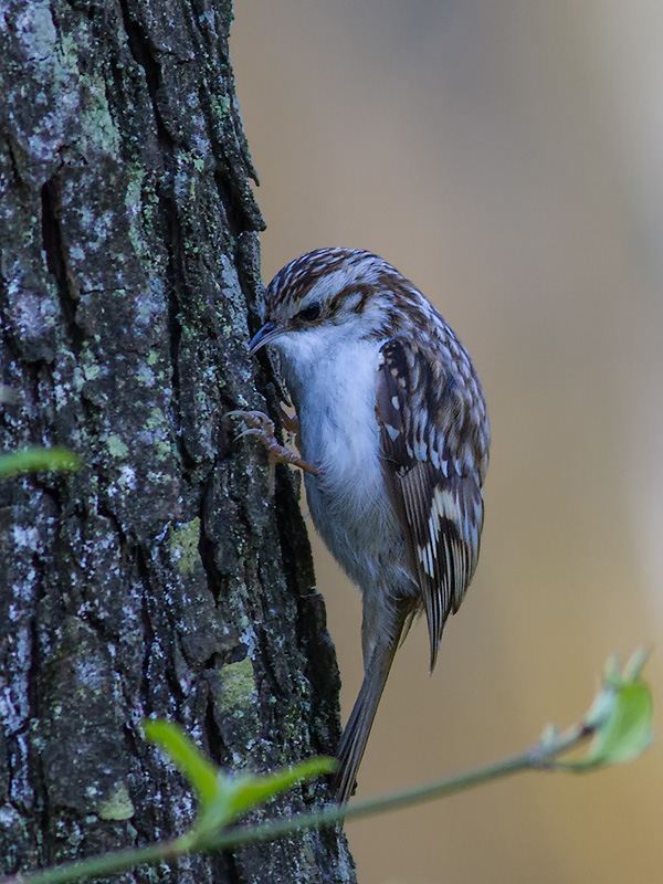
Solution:
M 328 334 L 318 328 L 315 336 L 298 333 L 281 346 L 301 421 L 302 455 L 322 470 L 319 477 L 305 476 L 308 505 L 323 539 L 359 583 L 368 577 L 362 571 L 371 567 L 371 548 L 377 555 L 394 530 L 376 419 L 382 344 L 346 337 L 335 327 Z

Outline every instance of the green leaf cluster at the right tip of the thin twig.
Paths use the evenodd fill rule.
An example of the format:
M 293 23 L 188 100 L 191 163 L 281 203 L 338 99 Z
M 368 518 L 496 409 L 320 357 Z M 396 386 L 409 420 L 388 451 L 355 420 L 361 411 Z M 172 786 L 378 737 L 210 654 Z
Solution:
M 602 765 L 627 764 L 653 741 L 654 702 L 649 685 L 640 677 L 646 654 L 636 651 L 620 673 L 612 657 L 603 686 L 585 718 L 596 733 L 583 758 L 558 762 L 567 770 L 588 770 Z

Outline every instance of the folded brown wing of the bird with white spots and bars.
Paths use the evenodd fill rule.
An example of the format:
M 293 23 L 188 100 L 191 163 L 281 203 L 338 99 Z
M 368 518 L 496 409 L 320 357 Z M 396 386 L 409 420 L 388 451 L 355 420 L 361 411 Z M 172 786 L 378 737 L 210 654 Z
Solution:
M 435 665 L 442 630 L 474 575 L 487 464 L 485 404 L 453 340 L 428 351 L 391 339 L 380 350 L 376 414 L 382 472 L 421 588 Z

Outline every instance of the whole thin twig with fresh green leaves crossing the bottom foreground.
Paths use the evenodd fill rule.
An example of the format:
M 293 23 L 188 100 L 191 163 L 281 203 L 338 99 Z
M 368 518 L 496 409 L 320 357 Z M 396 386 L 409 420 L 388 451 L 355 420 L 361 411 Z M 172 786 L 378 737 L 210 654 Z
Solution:
M 146 720 L 147 739 L 169 757 L 196 793 L 198 813 L 191 828 L 171 841 L 15 875 L 0 881 L 0 884 L 66 884 L 124 872 L 137 865 L 171 861 L 187 853 L 273 841 L 304 829 L 335 825 L 344 820 L 444 798 L 523 770 L 581 772 L 627 764 L 638 758 L 653 738 L 653 699 L 642 680 L 645 659 L 643 651 L 636 651 L 620 670 L 618 659 L 611 657 L 606 665 L 601 690 L 582 720 L 564 732 L 552 726 L 545 728 L 538 743 L 512 758 L 390 796 L 354 801 L 348 807 L 332 804 L 287 820 L 232 829 L 229 827 L 251 809 L 265 804 L 278 792 L 301 780 L 330 772 L 334 760 L 312 758 L 292 768 L 260 776 L 227 774 L 206 758 L 178 725 L 160 719 Z M 571 749 L 587 744 L 583 756 L 568 758 Z

